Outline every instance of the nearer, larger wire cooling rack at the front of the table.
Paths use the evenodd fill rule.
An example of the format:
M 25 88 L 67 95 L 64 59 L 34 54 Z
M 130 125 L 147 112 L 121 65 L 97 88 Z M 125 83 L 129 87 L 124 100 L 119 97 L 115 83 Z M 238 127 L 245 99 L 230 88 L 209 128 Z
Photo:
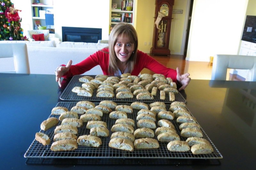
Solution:
M 70 110 L 73 106 L 76 105 L 77 102 L 59 102 L 57 106 L 63 106 L 68 108 Z M 95 105 L 98 105 L 99 103 L 95 103 Z M 130 103 L 118 103 L 118 104 L 126 104 L 130 105 Z M 166 109 L 169 109 L 169 104 L 166 105 Z M 137 129 L 137 113 L 138 110 L 133 109 L 133 113 L 127 113 L 128 118 L 131 118 L 135 121 L 135 127 L 134 130 Z M 56 117 L 58 118 L 58 115 L 50 115 L 49 117 Z M 80 116 L 79 116 L 80 117 Z M 156 125 L 157 121 L 159 119 L 156 116 Z M 50 145 L 43 146 L 41 143 L 37 142 L 35 139 L 29 146 L 28 150 L 26 151 L 24 157 L 25 158 L 177 158 L 177 159 L 221 159 L 223 158 L 218 149 L 215 147 L 215 145 L 212 143 L 210 138 L 205 134 L 204 130 L 201 128 L 203 132 L 203 138 L 206 139 L 208 142 L 211 143 L 213 152 L 211 154 L 200 154 L 200 155 L 194 155 L 191 151 L 187 152 L 171 152 L 167 149 L 168 142 L 159 142 L 159 148 L 158 149 L 144 149 L 144 150 L 136 150 L 130 152 L 130 151 L 123 151 L 123 150 L 117 150 L 114 148 L 110 148 L 108 146 L 108 143 L 110 141 L 111 136 L 111 127 L 115 124 L 114 119 L 109 118 L 109 114 L 103 114 L 101 117 L 101 121 L 104 121 L 107 123 L 108 130 L 110 132 L 109 137 L 100 137 L 102 144 L 99 148 L 93 148 L 93 147 L 86 147 L 86 146 L 79 146 L 76 150 L 73 151 L 58 151 L 54 152 L 51 151 L 51 144 L 53 143 L 53 137 L 54 137 L 54 129 L 57 126 L 54 126 L 46 131 L 40 130 L 40 132 L 43 132 L 47 134 L 50 139 L 51 143 Z M 177 134 L 180 136 L 180 129 L 179 125 L 180 123 L 177 123 L 176 120 L 171 120 L 172 124 L 174 125 Z M 61 122 L 59 122 L 58 125 L 60 125 Z M 155 129 L 154 129 L 155 131 Z M 78 128 L 78 137 L 81 135 L 89 135 L 90 129 L 86 129 L 86 123 L 83 124 L 81 128 Z M 154 137 L 156 140 L 156 136 Z M 181 141 L 186 141 L 187 138 L 181 137 Z

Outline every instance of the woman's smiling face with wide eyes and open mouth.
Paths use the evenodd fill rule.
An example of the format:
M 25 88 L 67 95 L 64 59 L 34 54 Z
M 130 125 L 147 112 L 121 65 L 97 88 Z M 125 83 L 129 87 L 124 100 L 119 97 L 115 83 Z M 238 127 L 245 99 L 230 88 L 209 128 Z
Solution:
M 120 36 L 114 46 L 116 57 L 121 62 L 127 62 L 134 51 L 134 43 L 127 36 Z

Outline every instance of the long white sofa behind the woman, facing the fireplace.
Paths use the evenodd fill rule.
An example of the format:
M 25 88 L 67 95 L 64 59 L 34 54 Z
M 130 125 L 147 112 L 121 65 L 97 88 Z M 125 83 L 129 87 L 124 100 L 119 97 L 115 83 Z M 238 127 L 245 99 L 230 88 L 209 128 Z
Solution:
M 51 41 L 0 41 L 1 43 L 27 43 L 28 59 L 31 74 L 54 74 L 61 64 L 67 64 L 71 59 L 76 64 L 89 57 L 94 52 L 107 47 L 103 43 L 74 43 Z M 103 74 L 100 66 L 95 66 L 85 75 Z

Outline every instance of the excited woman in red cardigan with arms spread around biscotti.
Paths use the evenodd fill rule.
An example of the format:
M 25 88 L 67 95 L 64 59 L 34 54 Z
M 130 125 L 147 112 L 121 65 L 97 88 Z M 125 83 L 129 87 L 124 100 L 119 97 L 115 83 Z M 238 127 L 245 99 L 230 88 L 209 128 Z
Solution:
M 113 27 L 108 40 L 109 46 L 92 54 L 82 62 L 71 65 L 72 60 L 67 64 L 59 66 L 55 70 L 56 81 L 60 84 L 60 78 L 68 78 L 92 69 L 100 65 L 105 75 L 121 75 L 131 73 L 138 76 L 143 68 L 164 74 L 165 77 L 171 77 L 172 80 L 181 85 L 179 90 L 185 89 L 190 82 L 189 73 L 180 74 L 177 71 L 167 68 L 157 62 L 154 58 L 138 50 L 138 36 L 131 24 L 118 23 Z

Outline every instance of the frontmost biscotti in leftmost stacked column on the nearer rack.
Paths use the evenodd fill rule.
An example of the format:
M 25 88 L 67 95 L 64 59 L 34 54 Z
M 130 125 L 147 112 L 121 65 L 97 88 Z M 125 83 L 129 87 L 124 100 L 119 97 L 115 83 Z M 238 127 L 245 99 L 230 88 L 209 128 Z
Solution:
M 73 140 L 60 140 L 52 143 L 52 151 L 72 151 L 77 149 L 77 143 Z

